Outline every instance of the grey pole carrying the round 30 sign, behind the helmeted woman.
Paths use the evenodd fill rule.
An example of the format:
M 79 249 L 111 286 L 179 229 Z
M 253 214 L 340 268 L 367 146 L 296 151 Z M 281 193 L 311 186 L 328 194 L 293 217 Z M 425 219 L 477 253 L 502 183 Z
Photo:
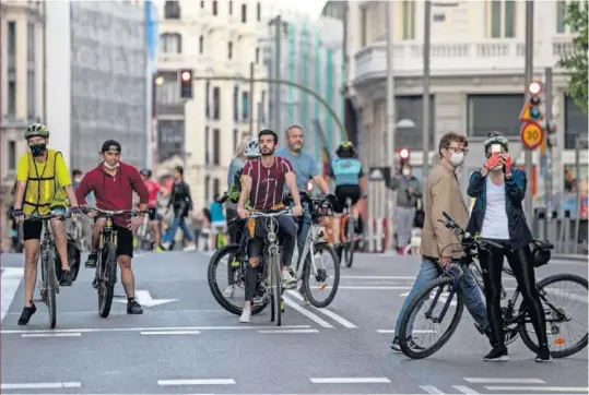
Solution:
M 533 0 L 526 1 L 526 88 L 533 80 Z M 525 98 L 528 100 L 528 97 Z M 532 196 L 532 151 L 525 148 L 526 173 L 528 175 L 528 187 L 523 206 L 526 218 L 531 227 L 533 222 L 533 196 Z

